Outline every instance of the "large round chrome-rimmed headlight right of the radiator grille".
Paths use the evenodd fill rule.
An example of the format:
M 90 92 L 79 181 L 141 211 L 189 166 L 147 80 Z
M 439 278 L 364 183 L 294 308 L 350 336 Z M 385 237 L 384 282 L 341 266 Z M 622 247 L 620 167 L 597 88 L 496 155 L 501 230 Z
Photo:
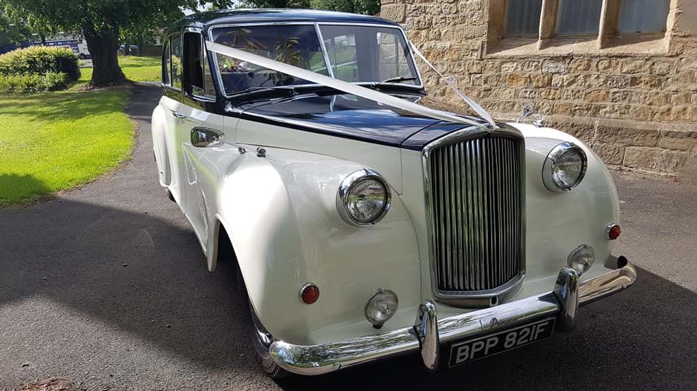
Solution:
M 544 160 L 542 182 L 549 191 L 569 191 L 579 186 L 587 169 L 588 159 L 581 147 L 561 143 L 553 147 Z

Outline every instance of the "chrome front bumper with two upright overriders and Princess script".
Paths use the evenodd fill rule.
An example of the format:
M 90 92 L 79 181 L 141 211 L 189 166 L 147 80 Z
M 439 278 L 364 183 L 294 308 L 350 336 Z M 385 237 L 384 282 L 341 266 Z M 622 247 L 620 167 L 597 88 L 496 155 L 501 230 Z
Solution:
M 270 357 L 280 367 L 302 375 L 319 375 L 389 356 L 420 351 L 424 365 L 438 367 L 442 343 L 487 334 L 493 330 L 524 324 L 539 317 L 557 317 L 557 328 L 570 331 L 576 323 L 579 305 L 604 298 L 636 281 L 636 270 L 625 263 L 620 269 L 579 282 L 573 269 L 563 268 L 552 292 L 522 298 L 445 319 L 438 319 L 436 305 L 420 305 L 415 325 L 379 335 L 367 335 L 342 342 L 300 346 L 276 341 Z

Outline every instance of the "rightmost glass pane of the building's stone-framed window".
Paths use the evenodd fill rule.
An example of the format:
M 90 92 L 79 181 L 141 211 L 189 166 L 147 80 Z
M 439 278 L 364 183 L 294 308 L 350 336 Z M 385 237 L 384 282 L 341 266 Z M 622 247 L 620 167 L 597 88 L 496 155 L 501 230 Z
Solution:
M 670 0 L 622 0 L 620 33 L 657 33 L 666 31 Z

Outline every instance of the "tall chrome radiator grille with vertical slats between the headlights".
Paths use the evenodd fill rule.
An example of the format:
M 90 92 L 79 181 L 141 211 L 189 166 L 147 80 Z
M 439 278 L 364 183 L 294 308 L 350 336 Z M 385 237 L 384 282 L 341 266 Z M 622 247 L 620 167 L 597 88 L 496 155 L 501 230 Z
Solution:
M 456 221 L 454 222 L 454 224 L 457 227 L 456 230 L 461 230 L 462 227 L 470 227 L 470 229 L 466 230 L 466 232 L 464 233 L 465 235 L 473 236 L 470 237 L 469 241 L 486 241 L 487 248 L 499 250 L 498 246 L 504 246 L 502 250 L 504 253 L 512 255 L 519 253 L 519 273 L 513 278 L 510 278 L 510 274 L 507 274 L 500 269 L 489 269 L 492 265 L 487 264 L 487 262 L 485 261 L 485 259 L 487 258 L 487 254 L 484 253 L 484 250 L 482 250 L 482 248 L 480 248 L 478 251 L 474 251 L 475 248 L 473 248 L 473 246 L 466 246 L 465 244 L 460 243 L 458 241 L 457 235 L 455 235 L 455 240 L 452 240 L 453 235 L 448 233 L 449 231 L 447 229 L 449 228 L 448 226 L 452 224 L 446 221 L 446 219 L 450 218 L 452 214 L 452 207 L 450 205 L 452 203 L 452 201 L 450 200 L 452 199 L 452 195 L 446 197 L 446 195 L 444 194 L 445 192 L 443 191 L 437 192 L 439 194 L 433 194 L 432 191 L 432 189 L 434 189 L 434 185 L 445 188 L 452 187 L 448 186 L 448 182 L 453 180 L 452 175 L 448 175 L 448 173 L 444 173 L 442 170 L 442 168 L 445 166 L 445 162 L 447 161 L 447 159 L 445 159 L 446 154 L 447 157 L 450 158 L 451 153 L 449 152 L 449 147 L 451 145 L 459 145 L 459 149 L 454 150 L 454 154 L 458 157 L 464 158 L 462 161 L 459 161 L 459 167 L 463 170 L 463 174 L 460 178 L 454 179 L 455 184 L 459 183 L 461 189 L 464 189 L 466 186 L 473 186 L 475 189 L 484 189 L 484 187 L 487 187 L 487 189 L 491 190 L 495 187 L 500 186 L 498 185 L 498 183 L 496 183 L 496 181 L 491 182 L 484 180 L 484 177 L 486 175 L 482 174 L 486 169 L 483 168 L 480 164 L 480 162 L 482 161 L 482 153 L 486 155 L 487 159 L 512 159 L 510 154 L 510 146 L 507 146 L 504 143 L 495 142 L 493 143 L 493 145 L 486 145 L 486 149 L 483 149 L 485 147 L 485 143 L 481 143 L 477 141 L 477 139 L 487 138 L 489 136 L 500 138 L 513 138 L 519 143 L 519 162 L 517 162 L 519 164 L 520 169 L 519 180 L 514 181 L 513 178 L 515 173 L 509 172 L 510 170 L 506 170 L 505 167 L 497 166 L 495 168 L 497 178 L 508 178 L 501 179 L 502 182 L 506 184 L 514 182 L 516 186 L 518 186 L 512 189 L 501 189 L 500 191 L 504 193 L 496 197 L 497 201 L 500 201 L 500 197 L 502 196 L 512 197 L 515 194 L 518 194 L 519 202 L 515 202 L 515 207 L 511 207 L 511 204 L 502 205 L 503 207 L 510 207 L 510 209 L 507 210 L 503 217 L 499 216 L 499 218 L 503 218 L 502 220 L 491 221 L 489 216 L 485 216 L 487 205 L 484 205 L 484 203 L 489 202 L 489 200 L 484 198 L 483 196 L 486 195 L 487 191 L 482 191 L 480 193 L 473 193 L 471 191 L 459 191 L 461 195 L 467 196 L 468 200 L 467 202 L 462 202 L 461 200 L 459 200 L 459 198 L 457 198 L 457 196 L 455 196 L 455 203 L 457 203 L 455 209 L 456 211 L 458 210 L 457 207 L 461 206 L 461 203 L 466 203 L 466 205 L 475 205 L 477 206 L 477 208 L 468 208 L 468 213 L 463 213 L 461 214 L 462 216 L 457 216 L 458 218 L 462 218 L 463 221 Z M 464 145 L 464 142 L 466 141 L 475 142 L 467 143 L 466 145 Z M 441 159 L 445 160 L 438 162 L 438 165 L 436 167 L 441 168 L 441 170 L 437 173 L 437 175 L 432 175 L 431 155 L 434 150 L 440 150 L 441 148 L 442 151 L 437 156 L 440 156 Z M 506 148 L 508 148 L 509 150 L 507 151 Z M 458 162 L 457 159 L 455 159 L 455 161 Z M 505 166 L 510 167 L 512 163 L 514 162 L 508 161 Z M 424 150 L 422 152 L 422 168 L 424 171 L 424 199 L 427 211 L 427 230 L 429 234 L 431 292 L 434 295 L 434 299 L 439 303 L 445 303 L 454 307 L 486 308 L 491 307 L 493 305 L 498 305 L 498 303 L 503 303 L 509 300 L 510 298 L 514 297 L 516 294 L 518 294 L 522 287 L 523 278 L 525 276 L 526 271 L 526 201 L 525 192 L 523 191 L 523 189 L 525 189 L 526 180 L 525 141 L 520 131 L 510 127 L 498 129 L 477 127 L 461 129 L 451 134 L 447 134 L 446 136 L 443 136 L 442 138 L 439 138 L 438 140 L 433 141 L 429 145 L 424 147 Z M 458 175 L 455 175 L 455 177 L 458 177 Z M 491 175 L 489 175 L 489 177 L 491 177 Z M 477 194 L 479 194 L 479 198 L 482 199 L 477 198 Z M 458 213 L 458 215 L 460 214 Z M 519 221 L 519 223 L 517 224 L 512 224 L 510 221 L 505 220 L 506 218 L 510 218 L 513 215 L 520 216 L 521 221 Z M 434 223 L 436 221 L 440 224 L 437 230 L 434 229 Z M 487 225 L 489 225 L 489 227 L 480 227 L 478 225 L 478 222 L 480 221 L 486 223 Z M 510 245 L 507 241 L 505 241 L 503 244 L 494 244 L 492 242 L 493 239 L 489 234 L 489 231 L 491 230 L 490 227 L 492 225 L 496 225 L 498 229 L 503 229 L 503 227 L 510 228 L 512 225 L 515 225 L 514 230 L 510 232 L 505 232 L 505 234 L 508 236 L 519 237 L 520 248 L 506 248 L 505 246 Z M 438 235 L 443 234 L 443 232 L 445 232 L 445 239 L 438 237 Z M 436 248 L 436 243 L 440 243 L 441 246 L 439 248 Z M 447 259 L 447 256 L 450 256 L 453 250 L 458 253 L 457 262 L 452 262 L 452 260 Z M 436 262 L 440 262 L 440 264 L 436 264 Z M 458 271 L 474 271 L 474 273 L 467 273 L 466 278 L 463 277 L 461 284 L 459 281 L 451 281 L 451 285 L 463 287 L 461 291 L 441 291 L 438 288 L 439 279 L 442 280 L 445 278 L 452 278 L 455 274 L 457 274 L 452 273 L 452 271 L 448 269 L 451 265 L 456 266 Z M 486 266 L 487 269 L 480 269 L 480 266 Z M 513 265 L 510 263 L 503 266 L 505 269 L 508 270 L 510 270 L 513 267 Z M 439 272 L 441 273 L 440 275 L 438 274 Z M 495 278 L 496 276 L 498 276 L 499 278 L 497 283 L 500 283 L 501 285 L 498 285 L 496 288 L 493 289 L 482 289 L 482 287 L 492 285 L 491 281 L 484 281 L 485 277 Z M 464 289 L 465 287 L 474 287 L 474 290 Z

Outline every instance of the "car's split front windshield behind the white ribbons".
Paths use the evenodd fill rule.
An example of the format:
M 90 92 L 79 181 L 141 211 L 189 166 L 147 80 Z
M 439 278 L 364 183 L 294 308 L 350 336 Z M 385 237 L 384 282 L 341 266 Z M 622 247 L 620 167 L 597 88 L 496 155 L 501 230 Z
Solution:
M 319 29 L 323 45 L 314 24 L 220 27 L 213 30 L 213 41 L 352 83 L 392 79 L 392 83 L 420 84 L 401 30 L 344 25 Z M 226 95 L 309 83 L 222 54 L 215 58 Z

